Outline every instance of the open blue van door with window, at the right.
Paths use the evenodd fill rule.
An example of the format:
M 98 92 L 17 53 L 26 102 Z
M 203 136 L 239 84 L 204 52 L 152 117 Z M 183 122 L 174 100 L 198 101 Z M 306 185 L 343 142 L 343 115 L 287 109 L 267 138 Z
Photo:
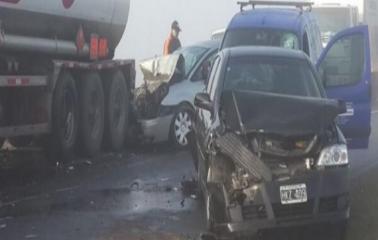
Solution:
M 371 65 L 369 31 L 357 26 L 338 33 L 317 63 L 329 98 L 347 103 L 338 122 L 354 149 L 368 148 L 371 132 Z

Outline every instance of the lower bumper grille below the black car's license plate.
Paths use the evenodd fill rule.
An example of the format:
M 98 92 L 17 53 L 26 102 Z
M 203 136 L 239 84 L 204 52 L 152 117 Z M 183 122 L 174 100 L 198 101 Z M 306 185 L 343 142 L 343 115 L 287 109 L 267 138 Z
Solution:
M 285 217 L 303 217 L 312 215 L 314 210 L 314 201 L 308 201 L 306 203 L 299 204 L 273 204 L 273 212 L 276 218 L 285 218 Z

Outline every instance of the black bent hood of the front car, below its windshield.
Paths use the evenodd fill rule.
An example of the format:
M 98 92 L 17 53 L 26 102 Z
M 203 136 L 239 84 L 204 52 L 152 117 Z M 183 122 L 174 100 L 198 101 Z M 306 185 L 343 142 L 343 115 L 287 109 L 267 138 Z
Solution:
M 318 134 L 339 114 L 337 100 L 254 91 L 227 91 L 222 109 L 229 128 L 280 136 Z

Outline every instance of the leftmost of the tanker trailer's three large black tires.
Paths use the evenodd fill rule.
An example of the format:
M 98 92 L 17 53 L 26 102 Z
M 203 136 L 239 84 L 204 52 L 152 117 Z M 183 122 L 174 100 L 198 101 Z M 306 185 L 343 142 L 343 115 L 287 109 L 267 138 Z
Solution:
M 62 72 L 55 86 L 52 109 L 52 139 L 44 145 L 50 157 L 71 158 L 77 141 L 78 92 L 71 74 Z M 53 154 L 53 155 L 50 155 Z

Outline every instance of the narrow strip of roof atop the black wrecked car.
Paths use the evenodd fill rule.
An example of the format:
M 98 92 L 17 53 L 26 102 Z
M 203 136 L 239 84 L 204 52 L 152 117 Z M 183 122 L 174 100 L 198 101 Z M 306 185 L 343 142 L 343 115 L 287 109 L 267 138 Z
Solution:
M 263 46 L 241 46 L 228 48 L 222 51 L 223 54 L 230 57 L 285 57 L 308 60 L 307 55 L 303 51 L 286 49 L 282 47 L 263 47 Z

